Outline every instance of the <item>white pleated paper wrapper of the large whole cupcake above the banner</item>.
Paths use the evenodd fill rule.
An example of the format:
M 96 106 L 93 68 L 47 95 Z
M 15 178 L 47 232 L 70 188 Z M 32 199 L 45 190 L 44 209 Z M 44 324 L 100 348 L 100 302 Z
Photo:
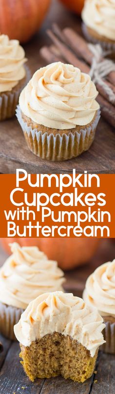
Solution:
M 19 124 L 23 130 L 25 140 L 30 150 L 38 157 L 51 161 L 63 161 L 77 157 L 85 150 L 89 149 L 95 138 L 96 126 L 100 118 L 100 111 L 96 113 L 96 117 L 90 126 L 85 129 L 71 132 L 66 135 L 65 133 L 60 136 L 58 133 L 54 136 L 53 133 L 43 133 L 38 129 L 32 129 L 24 122 L 20 107 L 17 107 L 16 115 Z

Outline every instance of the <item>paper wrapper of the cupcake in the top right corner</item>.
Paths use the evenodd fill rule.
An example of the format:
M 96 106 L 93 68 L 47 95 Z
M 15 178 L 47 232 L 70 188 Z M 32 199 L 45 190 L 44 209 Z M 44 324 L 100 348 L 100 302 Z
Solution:
M 102 41 L 99 38 L 93 37 L 89 31 L 87 26 L 82 23 L 82 31 L 84 36 L 86 37 L 87 41 L 92 42 L 93 44 L 100 44 L 101 47 L 103 48 L 104 51 L 109 51 L 110 53 L 115 52 L 115 43 L 107 42 L 107 41 Z

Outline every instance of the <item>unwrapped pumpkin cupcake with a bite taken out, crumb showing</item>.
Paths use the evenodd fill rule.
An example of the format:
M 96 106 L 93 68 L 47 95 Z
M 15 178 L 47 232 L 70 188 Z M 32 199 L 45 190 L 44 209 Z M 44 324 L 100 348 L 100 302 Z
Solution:
M 39 296 L 14 327 L 27 376 L 34 381 L 61 375 L 84 382 L 93 374 L 104 327 L 98 311 L 73 294 Z

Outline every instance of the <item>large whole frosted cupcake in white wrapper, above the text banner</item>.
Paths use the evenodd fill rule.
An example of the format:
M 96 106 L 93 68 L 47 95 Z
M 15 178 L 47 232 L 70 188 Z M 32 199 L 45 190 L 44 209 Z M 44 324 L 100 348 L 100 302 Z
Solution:
M 89 149 L 100 115 L 97 94 L 91 77 L 71 64 L 57 62 L 36 71 L 17 110 L 30 150 L 59 161 Z

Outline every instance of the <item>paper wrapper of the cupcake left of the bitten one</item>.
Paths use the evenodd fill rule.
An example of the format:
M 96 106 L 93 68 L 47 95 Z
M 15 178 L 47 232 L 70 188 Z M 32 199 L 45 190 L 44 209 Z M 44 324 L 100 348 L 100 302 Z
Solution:
M 4 337 L 17 340 L 14 325 L 19 322 L 23 309 L 11 307 L 0 302 L 0 333 Z

